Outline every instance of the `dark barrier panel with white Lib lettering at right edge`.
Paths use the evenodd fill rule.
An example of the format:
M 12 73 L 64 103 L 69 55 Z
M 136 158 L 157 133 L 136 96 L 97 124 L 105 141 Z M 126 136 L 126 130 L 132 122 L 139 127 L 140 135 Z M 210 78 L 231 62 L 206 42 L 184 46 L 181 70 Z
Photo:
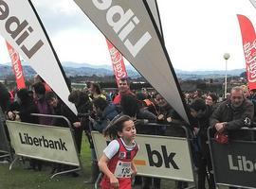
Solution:
M 236 134 L 255 132 L 256 129 L 235 130 Z M 232 131 L 230 131 L 232 132 Z M 229 139 L 229 144 L 218 144 L 208 129 L 210 156 L 217 185 L 256 188 L 256 142 Z

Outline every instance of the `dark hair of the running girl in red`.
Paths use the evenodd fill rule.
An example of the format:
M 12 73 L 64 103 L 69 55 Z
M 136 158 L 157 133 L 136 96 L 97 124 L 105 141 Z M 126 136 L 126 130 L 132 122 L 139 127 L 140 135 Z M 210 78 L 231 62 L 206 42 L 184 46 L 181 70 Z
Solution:
M 128 115 L 117 115 L 103 130 L 104 136 L 108 136 L 110 139 L 119 138 L 119 131 L 121 132 L 124 127 L 123 123 L 129 120 L 132 118 Z

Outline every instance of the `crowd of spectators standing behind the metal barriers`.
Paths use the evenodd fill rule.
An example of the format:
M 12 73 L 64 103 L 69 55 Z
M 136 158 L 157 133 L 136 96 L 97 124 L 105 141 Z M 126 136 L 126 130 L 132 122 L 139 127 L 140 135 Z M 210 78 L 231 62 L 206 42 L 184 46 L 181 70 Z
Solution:
M 34 123 L 48 126 L 68 127 L 64 120 L 52 117 L 37 117 L 31 113 L 64 115 L 74 129 L 74 137 L 81 153 L 82 132 L 84 131 L 91 148 L 91 172 L 92 178 L 88 183 L 93 183 L 99 174 L 98 161 L 91 137 L 91 130 L 102 132 L 108 123 L 119 114 L 129 115 L 137 126 L 137 133 L 165 136 L 185 136 L 181 126 L 191 130 L 194 143 L 192 144 L 194 165 L 197 167 L 198 188 L 215 188 L 210 161 L 210 149 L 208 145 L 207 130 L 209 127 L 215 129 L 219 134 L 229 134 L 229 130 L 237 130 L 245 126 L 245 119 L 255 120 L 254 109 L 256 106 L 255 91 L 249 92 L 247 86 L 234 87 L 225 98 L 219 98 L 218 94 L 199 91 L 184 93 L 186 109 L 190 112 L 190 124 L 186 123 L 180 115 L 167 103 L 167 101 L 154 92 L 143 89 L 134 92 L 130 89 L 127 78 L 119 80 L 119 93 L 105 93 L 101 91 L 98 83 L 91 83 L 89 88 L 73 90 L 68 100 L 73 103 L 78 115 L 69 110 L 64 102 L 54 94 L 44 80 L 36 76 L 32 91 L 21 89 L 16 93 L 9 93 L 6 87 L 0 83 L 0 117 L 4 122 L 6 119 L 19 120 L 21 122 Z M 147 123 L 157 123 L 159 126 L 147 127 Z M 168 127 L 172 125 L 172 127 Z M 8 130 L 7 130 L 8 131 Z M 237 136 L 232 132 L 230 137 L 245 138 L 245 135 Z M 68 169 L 60 163 L 53 163 L 51 173 Z M 41 171 L 44 162 L 29 159 L 29 167 Z M 74 177 L 79 176 L 73 173 Z M 136 177 L 135 184 L 142 188 L 160 188 L 160 179 L 149 177 Z M 176 188 L 186 188 L 188 183 L 177 181 Z

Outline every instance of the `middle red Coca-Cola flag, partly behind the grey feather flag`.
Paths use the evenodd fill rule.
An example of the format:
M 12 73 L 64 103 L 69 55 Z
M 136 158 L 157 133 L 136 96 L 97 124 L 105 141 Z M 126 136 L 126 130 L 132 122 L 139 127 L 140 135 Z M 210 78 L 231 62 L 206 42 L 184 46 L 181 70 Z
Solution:
M 124 61 L 123 61 L 122 55 L 120 54 L 119 50 L 112 43 L 110 43 L 107 39 L 106 39 L 106 42 L 107 42 L 108 50 L 109 50 L 110 57 L 112 60 L 113 71 L 114 71 L 114 74 L 116 77 L 116 81 L 119 85 L 120 78 L 128 77 L 126 69 L 125 69 Z

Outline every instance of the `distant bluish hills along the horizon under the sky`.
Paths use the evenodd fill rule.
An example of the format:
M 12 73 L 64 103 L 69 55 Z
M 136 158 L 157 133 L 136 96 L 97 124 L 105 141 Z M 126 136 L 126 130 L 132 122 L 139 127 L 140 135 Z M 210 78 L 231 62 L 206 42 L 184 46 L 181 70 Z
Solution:
M 92 76 L 96 75 L 99 77 L 102 76 L 112 76 L 113 70 L 111 65 L 92 65 L 89 63 L 76 63 L 71 61 L 63 62 L 64 72 L 67 77 L 70 76 Z M 33 77 L 35 75 L 35 71 L 24 63 L 23 66 L 25 76 Z M 137 73 L 136 69 L 134 69 L 131 65 L 126 66 L 126 70 L 128 72 L 129 77 L 140 77 Z M 246 69 L 235 69 L 229 70 L 229 76 L 240 76 L 241 73 L 245 72 Z M 183 71 L 179 69 L 175 69 L 175 73 L 177 77 L 182 79 L 198 79 L 198 78 L 212 78 L 212 77 L 224 77 L 225 71 Z M 0 79 L 5 79 L 8 76 L 13 75 L 10 63 L 0 64 Z

